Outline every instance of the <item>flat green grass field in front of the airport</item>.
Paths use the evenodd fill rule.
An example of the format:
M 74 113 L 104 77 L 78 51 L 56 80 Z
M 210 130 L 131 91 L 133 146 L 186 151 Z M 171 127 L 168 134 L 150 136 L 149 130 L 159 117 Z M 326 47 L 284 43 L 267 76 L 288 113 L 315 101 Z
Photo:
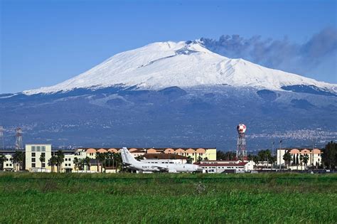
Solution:
M 336 174 L 0 173 L 0 223 L 336 221 Z

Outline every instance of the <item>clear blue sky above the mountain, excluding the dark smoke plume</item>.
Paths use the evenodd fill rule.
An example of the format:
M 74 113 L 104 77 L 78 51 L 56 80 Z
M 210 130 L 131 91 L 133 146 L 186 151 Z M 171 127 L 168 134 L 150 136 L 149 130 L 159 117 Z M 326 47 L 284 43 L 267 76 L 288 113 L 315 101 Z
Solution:
M 262 41 L 286 41 L 290 49 L 298 48 L 290 57 L 307 52 L 312 40 L 314 48 L 328 43 L 323 53 L 306 53 L 298 66 L 275 65 L 274 60 L 261 63 L 337 82 L 336 1 L 0 2 L 1 93 L 55 85 L 115 53 L 148 43 L 218 40 L 232 34 L 247 40 L 261 36 Z M 266 57 L 289 56 L 275 52 Z M 314 59 L 317 64 L 306 66 Z

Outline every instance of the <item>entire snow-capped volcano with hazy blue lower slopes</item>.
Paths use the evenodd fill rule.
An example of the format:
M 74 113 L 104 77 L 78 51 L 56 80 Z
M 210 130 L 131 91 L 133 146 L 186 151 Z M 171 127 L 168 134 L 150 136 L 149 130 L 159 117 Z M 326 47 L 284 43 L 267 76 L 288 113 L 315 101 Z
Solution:
M 6 145 L 316 146 L 336 139 L 337 85 L 225 58 L 202 41 L 160 42 L 118 53 L 51 87 L 0 95 Z

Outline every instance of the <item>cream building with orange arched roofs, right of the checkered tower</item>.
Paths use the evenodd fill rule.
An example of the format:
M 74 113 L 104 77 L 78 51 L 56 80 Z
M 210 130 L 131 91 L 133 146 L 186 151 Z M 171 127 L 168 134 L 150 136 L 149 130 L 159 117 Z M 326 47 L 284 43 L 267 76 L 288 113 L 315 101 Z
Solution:
M 291 161 L 284 161 L 284 154 L 289 152 Z M 318 168 L 322 164 L 320 149 L 277 149 L 277 167 L 287 167 L 291 170 L 304 170 L 306 167 Z M 304 162 L 304 156 L 308 157 L 307 164 Z

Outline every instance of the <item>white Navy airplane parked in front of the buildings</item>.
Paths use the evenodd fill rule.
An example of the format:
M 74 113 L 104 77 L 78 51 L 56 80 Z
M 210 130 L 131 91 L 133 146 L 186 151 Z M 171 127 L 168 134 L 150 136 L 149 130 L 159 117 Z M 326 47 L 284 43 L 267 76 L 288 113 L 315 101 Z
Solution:
M 200 166 L 193 164 L 150 164 L 137 161 L 130 154 L 127 148 L 120 149 L 124 166 L 141 172 L 169 172 L 169 173 L 191 173 L 195 171 L 203 171 Z

